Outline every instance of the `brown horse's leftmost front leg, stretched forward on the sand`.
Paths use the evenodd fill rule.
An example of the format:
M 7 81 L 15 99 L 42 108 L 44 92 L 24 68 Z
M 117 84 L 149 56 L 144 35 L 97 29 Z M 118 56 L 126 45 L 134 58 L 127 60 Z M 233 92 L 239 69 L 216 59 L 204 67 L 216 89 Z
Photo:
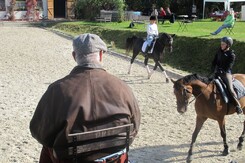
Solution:
M 195 142 L 196 142 L 196 138 L 197 138 L 197 135 L 198 133 L 200 132 L 202 126 L 203 126 L 203 123 L 207 120 L 206 117 L 200 117 L 200 116 L 197 116 L 196 117 L 196 127 L 195 127 L 195 130 L 192 134 L 192 139 L 191 139 L 191 145 L 190 145 L 190 149 L 188 151 L 188 156 L 187 156 L 187 163 L 191 162 L 192 161 L 192 151 L 193 151 L 193 148 L 194 148 L 194 145 L 195 145 Z

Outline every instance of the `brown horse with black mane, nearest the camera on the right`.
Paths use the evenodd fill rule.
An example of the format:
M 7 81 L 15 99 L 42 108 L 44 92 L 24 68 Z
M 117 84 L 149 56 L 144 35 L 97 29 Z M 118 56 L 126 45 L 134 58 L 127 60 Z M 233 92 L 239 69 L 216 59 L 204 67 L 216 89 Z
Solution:
M 234 74 L 234 77 L 239 80 L 243 86 L 245 86 L 245 74 Z M 188 152 L 187 162 L 192 161 L 192 151 L 195 144 L 197 135 L 201 130 L 204 122 L 210 118 L 218 121 L 220 133 L 223 138 L 224 150 L 222 155 L 229 154 L 229 147 L 226 142 L 226 130 L 225 130 L 225 115 L 230 115 L 236 112 L 235 106 L 231 103 L 225 103 L 221 94 L 214 84 L 213 80 L 210 80 L 199 75 L 187 75 L 177 81 L 171 79 L 174 83 L 174 94 L 177 99 L 177 111 L 184 113 L 187 111 L 189 99 L 192 95 L 195 97 L 195 110 L 196 110 L 196 127 L 192 134 L 192 140 L 190 149 Z M 245 109 L 245 96 L 240 98 L 240 104 Z M 243 131 L 239 137 L 239 143 L 237 149 L 242 149 L 242 143 L 245 137 L 245 121 L 243 122 Z

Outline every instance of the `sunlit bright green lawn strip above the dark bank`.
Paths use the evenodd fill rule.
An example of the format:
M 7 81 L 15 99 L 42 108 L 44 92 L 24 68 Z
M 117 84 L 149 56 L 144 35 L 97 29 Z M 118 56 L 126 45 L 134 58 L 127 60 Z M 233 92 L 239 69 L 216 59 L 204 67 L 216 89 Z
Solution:
M 178 20 L 177 20 L 178 21 Z M 205 20 L 196 20 L 193 23 L 187 24 L 187 31 L 178 31 L 179 23 L 175 22 L 170 24 L 168 21 L 165 21 L 164 24 L 159 22 L 158 29 L 159 32 L 167 32 L 172 34 L 177 34 L 178 36 L 187 36 L 187 37 L 201 37 L 201 38 L 221 38 L 223 36 L 231 36 L 233 39 L 237 41 L 245 42 L 245 22 L 237 21 L 235 22 L 235 27 L 233 32 L 235 34 L 226 34 L 226 30 L 224 29 L 221 33 L 216 36 L 210 35 L 211 32 L 214 32 L 219 26 L 222 25 L 223 22 L 212 21 L 210 19 Z M 87 21 L 76 21 L 76 22 L 65 22 L 64 24 L 73 24 L 73 25 L 85 25 L 85 26 L 98 26 L 107 29 L 113 30 L 130 30 L 130 31 L 146 31 L 147 24 L 135 24 L 134 28 L 128 28 L 130 21 L 125 21 L 121 23 L 117 22 L 109 22 L 109 23 L 98 23 L 98 22 L 87 22 Z M 76 31 L 69 31 L 70 34 L 76 35 L 78 34 Z

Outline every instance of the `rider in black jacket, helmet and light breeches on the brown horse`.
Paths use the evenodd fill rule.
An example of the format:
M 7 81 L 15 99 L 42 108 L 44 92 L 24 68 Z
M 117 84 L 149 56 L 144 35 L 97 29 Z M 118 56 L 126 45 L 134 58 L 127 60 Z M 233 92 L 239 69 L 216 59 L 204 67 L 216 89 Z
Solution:
M 232 44 L 233 40 L 231 37 L 223 37 L 221 39 L 220 49 L 216 53 L 212 62 L 212 72 L 215 73 L 215 76 L 220 76 L 221 79 L 225 82 L 228 91 L 233 97 L 233 101 L 236 106 L 236 112 L 237 114 L 241 114 L 241 105 L 237 99 L 232 85 L 232 67 L 236 58 L 234 51 L 230 49 Z

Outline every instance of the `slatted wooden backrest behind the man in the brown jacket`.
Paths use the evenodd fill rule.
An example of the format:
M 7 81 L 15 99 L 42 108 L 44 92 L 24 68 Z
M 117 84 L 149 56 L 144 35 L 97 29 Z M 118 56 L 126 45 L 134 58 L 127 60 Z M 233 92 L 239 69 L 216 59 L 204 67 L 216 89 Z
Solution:
M 66 148 L 54 149 L 57 158 L 75 158 L 86 152 L 98 152 L 99 150 L 120 147 L 129 150 L 132 142 L 133 124 L 126 124 L 101 130 L 94 130 L 68 135 Z M 115 151 L 116 152 L 116 151 Z

